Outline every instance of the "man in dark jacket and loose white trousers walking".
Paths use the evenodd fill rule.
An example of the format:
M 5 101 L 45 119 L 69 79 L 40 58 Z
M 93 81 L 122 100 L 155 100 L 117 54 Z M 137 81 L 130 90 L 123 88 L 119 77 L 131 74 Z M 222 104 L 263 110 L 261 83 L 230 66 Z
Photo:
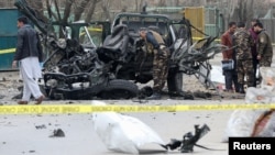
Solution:
M 42 55 L 40 41 L 36 31 L 28 24 L 28 19 L 21 16 L 18 19 L 18 44 L 13 57 L 12 67 L 20 65 L 20 73 L 23 79 L 23 97 L 19 104 L 28 104 L 31 96 L 40 104 L 44 96 L 40 90 L 37 79 L 42 77 L 38 57 Z

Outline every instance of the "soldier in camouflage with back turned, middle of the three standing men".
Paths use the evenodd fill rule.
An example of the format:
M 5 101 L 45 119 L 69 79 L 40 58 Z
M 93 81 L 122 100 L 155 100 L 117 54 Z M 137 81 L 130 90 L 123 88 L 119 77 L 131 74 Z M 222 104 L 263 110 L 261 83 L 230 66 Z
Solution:
M 238 23 L 238 30 L 233 35 L 233 43 L 235 47 L 237 56 L 237 73 L 239 82 L 239 92 L 244 92 L 244 77 L 246 77 L 248 87 L 254 86 L 254 69 L 253 59 L 251 53 L 251 46 L 253 46 L 253 38 L 249 31 L 245 30 L 243 22 Z

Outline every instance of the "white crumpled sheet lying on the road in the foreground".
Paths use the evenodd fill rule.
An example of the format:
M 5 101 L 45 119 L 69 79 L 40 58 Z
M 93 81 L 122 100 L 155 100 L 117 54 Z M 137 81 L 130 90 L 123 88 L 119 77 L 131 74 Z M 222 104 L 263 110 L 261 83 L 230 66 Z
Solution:
M 106 106 L 92 101 L 94 106 Z M 161 136 L 136 118 L 117 112 L 94 112 L 92 124 L 96 133 L 110 151 L 139 154 L 142 145 L 156 143 L 165 145 Z

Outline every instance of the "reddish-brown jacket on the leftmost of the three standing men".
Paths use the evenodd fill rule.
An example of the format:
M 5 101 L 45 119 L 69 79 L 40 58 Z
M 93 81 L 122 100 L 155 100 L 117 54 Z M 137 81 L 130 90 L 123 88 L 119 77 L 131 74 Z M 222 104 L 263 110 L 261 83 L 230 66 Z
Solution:
M 221 35 L 221 44 L 228 46 L 229 48 L 231 48 L 233 46 L 232 35 L 233 34 L 230 34 L 229 31 L 227 31 L 226 33 L 223 33 Z M 223 57 L 223 59 L 226 59 L 226 58 L 233 59 L 233 49 L 223 51 L 222 52 L 222 57 Z

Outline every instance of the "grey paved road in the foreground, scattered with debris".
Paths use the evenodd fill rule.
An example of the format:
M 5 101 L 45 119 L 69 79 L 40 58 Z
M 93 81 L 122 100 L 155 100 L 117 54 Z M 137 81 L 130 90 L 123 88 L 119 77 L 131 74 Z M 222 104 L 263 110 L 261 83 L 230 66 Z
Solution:
M 140 106 L 131 100 L 106 101 L 114 104 Z M 226 104 L 241 103 L 242 100 L 161 100 L 143 104 Z M 90 101 L 46 101 L 44 104 L 89 104 Z M 210 132 L 198 144 L 209 148 L 194 148 L 198 155 L 227 155 L 228 144 L 222 143 L 223 131 L 231 110 L 199 110 L 180 112 L 127 112 L 123 114 L 140 119 L 151 126 L 164 142 L 170 139 L 183 139 L 187 132 L 194 133 L 195 124 L 207 124 Z M 65 137 L 50 137 L 54 130 L 62 129 Z M 102 141 L 95 133 L 91 114 L 11 114 L 0 115 L 0 153 L 3 155 L 120 155 L 108 151 Z M 162 152 L 160 152 L 162 151 Z M 183 154 L 176 151 L 164 153 L 156 144 L 142 146 L 142 154 Z

